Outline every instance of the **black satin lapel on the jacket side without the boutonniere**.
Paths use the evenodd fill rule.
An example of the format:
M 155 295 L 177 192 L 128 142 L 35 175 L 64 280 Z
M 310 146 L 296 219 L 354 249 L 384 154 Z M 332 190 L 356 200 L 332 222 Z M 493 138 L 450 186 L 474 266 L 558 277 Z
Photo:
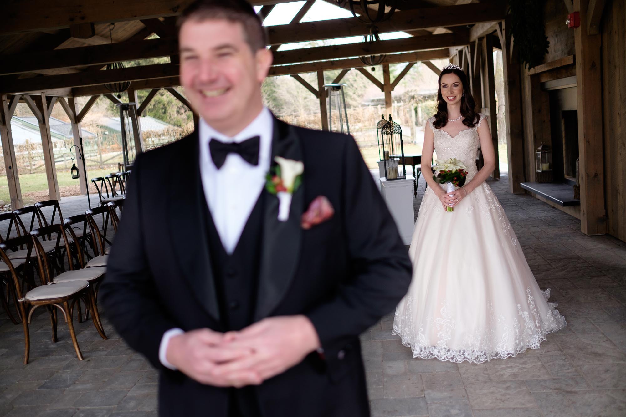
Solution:
M 213 269 L 208 251 L 206 220 L 203 204 L 206 204 L 200 179 L 197 133 L 184 138 L 188 141 L 178 160 L 189 161 L 172 170 L 168 187 L 167 219 L 173 255 L 180 275 L 190 286 L 190 292 L 216 321 L 220 319 Z M 172 277 L 178 279 L 178 277 Z

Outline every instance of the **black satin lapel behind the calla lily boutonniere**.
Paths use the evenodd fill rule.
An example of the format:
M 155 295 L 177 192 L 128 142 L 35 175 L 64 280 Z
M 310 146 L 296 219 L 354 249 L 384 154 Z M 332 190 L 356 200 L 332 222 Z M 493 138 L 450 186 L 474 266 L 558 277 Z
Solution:
M 275 156 L 303 160 L 302 148 L 294 128 L 277 119 L 274 119 L 272 162 Z M 306 165 L 303 175 L 307 175 Z M 300 217 L 304 212 L 304 182 L 292 197 L 289 219 L 286 222 L 278 220 L 278 198 L 267 190 L 263 192 L 267 195 L 255 321 L 267 317 L 285 296 L 294 279 L 302 245 Z

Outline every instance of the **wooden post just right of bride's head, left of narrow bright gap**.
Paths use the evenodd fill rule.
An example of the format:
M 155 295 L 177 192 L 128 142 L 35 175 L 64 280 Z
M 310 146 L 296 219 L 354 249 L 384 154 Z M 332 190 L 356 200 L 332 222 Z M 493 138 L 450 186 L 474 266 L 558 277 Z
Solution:
M 483 39 L 483 66 L 481 70 L 483 80 L 483 114 L 489 116 L 491 139 L 496 152 L 496 166 L 491 174 L 495 180 L 500 179 L 500 160 L 498 158 L 498 107 L 496 106 L 496 85 L 493 71 L 493 39 L 485 36 Z

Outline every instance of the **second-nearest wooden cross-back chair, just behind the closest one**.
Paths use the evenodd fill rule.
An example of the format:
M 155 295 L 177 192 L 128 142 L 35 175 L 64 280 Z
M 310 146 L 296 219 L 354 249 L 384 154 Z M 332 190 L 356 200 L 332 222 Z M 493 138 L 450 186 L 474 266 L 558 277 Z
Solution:
M 59 240 L 61 240 L 62 238 L 64 246 L 66 247 L 65 252 L 67 254 L 67 262 L 68 262 L 69 270 L 64 270 L 64 268 L 62 268 L 61 270 L 58 270 L 54 268 L 53 262 L 51 262 L 54 259 L 51 259 L 51 257 L 49 257 L 45 253 L 45 251 L 43 250 L 43 247 L 41 247 L 41 241 L 39 240 L 39 237 L 41 237 L 42 235 L 51 235 L 51 234 L 56 235 L 57 239 Z M 64 229 L 63 226 L 59 224 L 54 224 L 54 225 L 42 227 L 41 229 L 33 230 L 33 232 L 31 232 L 31 236 L 33 237 L 33 240 L 34 240 L 34 247 L 36 249 L 38 262 L 42 268 L 41 273 L 46 274 L 49 282 L 52 282 L 54 284 L 59 284 L 59 283 L 71 282 L 71 281 L 87 281 L 90 283 L 91 291 L 93 292 L 93 306 L 90 300 L 84 299 L 85 306 L 86 306 L 85 318 L 86 318 L 87 311 L 93 311 L 91 316 L 92 317 L 95 316 L 96 320 L 98 321 L 98 325 L 100 326 L 98 328 L 98 332 L 100 332 L 100 335 L 102 336 L 104 334 L 104 331 L 102 329 L 102 325 L 100 322 L 100 315 L 98 314 L 98 311 L 94 310 L 92 307 L 97 308 L 98 288 L 100 287 L 100 282 L 102 282 L 102 280 L 105 277 L 106 269 L 103 267 L 93 267 L 89 269 L 83 269 L 83 267 L 85 266 L 85 262 L 83 260 L 83 255 L 81 253 L 81 248 L 80 248 L 80 245 L 78 244 L 78 241 L 74 240 L 72 243 L 70 243 L 68 235 L 66 234 L 66 230 Z M 74 246 L 73 248 L 74 250 L 71 250 L 70 246 Z M 72 256 L 71 256 L 71 254 L 74 251 L 75 253 L 78 254 L 78 257 L 77 257 L 78 269 L 76 269 Z M 58 274 L 54 274 L 54 272 L 57 270 L 58 270 Z M 80 302 L 77 304 L 77 306 L 78 306 L 78 317 L 79 317 L 79 322 L 80 322 L 82 320 Z

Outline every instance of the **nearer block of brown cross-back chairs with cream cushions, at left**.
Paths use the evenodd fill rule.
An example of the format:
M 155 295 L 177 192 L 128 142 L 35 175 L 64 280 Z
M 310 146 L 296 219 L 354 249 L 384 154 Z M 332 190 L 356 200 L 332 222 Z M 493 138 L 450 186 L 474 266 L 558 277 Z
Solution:
M 54 200 L 52 200 L 54 201 Z M 42 202 L 48 203 L 48 202 Z M 36 207 L 41 212 L 44 204 Z M 39 306 L 45 306 L 49 312 L 53 327 L 53 342 L 56 342 L 57 309 L 61 310 L 64 320 L 68 323 L 69 333 L 74 344 L 76 356 L 82 360 L 83 356 L 76 341 L 73 328 L 74 308 L 78 310 L 78 321 L 83 320 L 81 312 L 81 300 L 85 304 L 85 317 L 91 312 L 98 334 L 106 339 L 104 329 L 100 321 L 97 309 L 97 294 L 100 282 L 106 273 L 106 261 L 110 240 L 106 238 L 108 224 L 116 231 L 119 218 L 116 210 L 123 205 L 123 200 L 111 202 L 107 205 L 87 210 L 85 214 L 75 215 L 63 219 L 63 222 L 54 223 L 54 213 L 51 222 L 43 215 L 43 212 L 35 215 L 39 227 L 32 229 L 34 219 L 31 221 L 31 230 L 26 232 L 26 227 L 20 218 L 18 210 L 13 215 L 13 222 L 18 229 L 16 237 L 2 239 L 0 237 L 0 284 L 6 286 L 6 294 L 2 294 L 3 285 L 0 285 L 0 297 L 4 310 L 14 324 L 19 321 L 24 326 L 25 353 L 24 364 L 28 363 L 29 357 L 29 331 L 28 324 L 31 322 L 33 312 Z M 55 210 L 60 207 L 56 202 Z M 16 213 L 17 212 L 17 213 Z M 103 229 L 98 223 L 102 216 Z M 82 227 L 77 227 L 82 226 Z M 21 232 L 19 229 L 22 229 Z M 103 233 L 104 232 L 104 233 Z M 106 244 L 109 244 L 106 247 Z M 88 253 L 88 247 L 93 250 L 93 256 Z M 66 270 L 65 265 L 68 265 Z M 36 284 L 34 275 L 39 275 L 39 284 Z M 13 300 L 18 319 L 13 316 L 9 302 Z M 55 308 L 56 307 L 56 308 Z

